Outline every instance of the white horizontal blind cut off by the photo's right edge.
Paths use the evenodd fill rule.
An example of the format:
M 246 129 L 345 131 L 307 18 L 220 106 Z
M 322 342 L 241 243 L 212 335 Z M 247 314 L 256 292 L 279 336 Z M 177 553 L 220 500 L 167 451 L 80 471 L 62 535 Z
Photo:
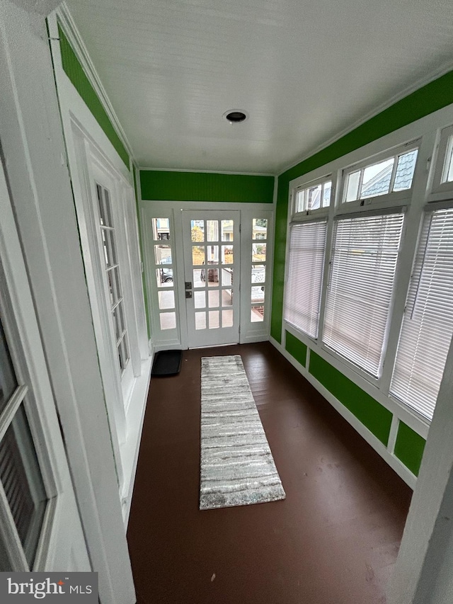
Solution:
M 425 217 L 390 392 L 432 418 L 453 334 L 453 208 Z

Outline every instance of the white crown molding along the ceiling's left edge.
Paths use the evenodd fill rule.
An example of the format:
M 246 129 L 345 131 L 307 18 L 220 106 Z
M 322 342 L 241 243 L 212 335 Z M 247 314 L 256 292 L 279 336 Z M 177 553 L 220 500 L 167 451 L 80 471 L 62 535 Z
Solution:
M 108 94 L 105 91 L 105 88 L 103 87 L 101 78 L 99 77 L 99 74 L 96 71 L 96 67 L 94 66 L 94 63 L 91 60 L 85 42 L 81 38 L 79 30 L 77 29 L 74 18 L 72 17 L 66 2 L 62 2 L 62 4 L 56 9 L 55 14 L 57 16 L 59 24 L 62 26 L 64 33 L 67 36 L 67 39 L 69 40 L 74 52 L 76 53 L 77 58 L 79 59 L 81 66 L 84 69 L 88 81 L 90 82 L 91 86 L 93 86 L 94 91 L 98 95 L 98 98 L 101 101 L 103 108 L 105 109 L 105 113 L 107 113 L 108 118 L 112 122 L 112 125 L 117 132 L 117 135 L 120 137 L 122 144 L 125 146 L 125 149 L 127 150 L 127 153 L 130 156 L 130 164 L 134 165 L 134 152 L 132 151 L 130 142 L 128 141 L 125 131 L 122 128 L 121 122 L 118 119 L 115 110 L 113 109 L 112 103 L 110 103 Z

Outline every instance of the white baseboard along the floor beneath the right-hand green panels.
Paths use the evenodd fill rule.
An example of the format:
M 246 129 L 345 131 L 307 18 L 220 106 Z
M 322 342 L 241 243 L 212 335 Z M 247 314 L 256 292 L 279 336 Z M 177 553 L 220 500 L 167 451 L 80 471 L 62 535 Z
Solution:
M 348 423 L 350 423 L 352 428 L 355 428 L 362 438 L 365 438 L 367 443 L 371 445 L 372 448 L 379 453 L 379 455 L 381 455 L 389 466 L 394 469 L 396 474 L 398 474 L 398 476 L 403 479 L 403 481 L 406 482 L 411 489 L 414 489 L 415 483 L 417 482 L 417 477 L 415 477 L 415 475 L 408 468 L 406 468 L 406 466 L 403 465 L 400 460 L 398 460 L 398 457 L 396 457 L 393 452 L 390 452 L 381 443 L 379 438 L 376 438 L 376 436 L 374 436 L 374 434 L 370 432 L 368 428 L 366 428 L 362 422 L 360 422 L 355 415 L 349 411 L 349 409 L 346 409 L 346 407 L 338 399 L 336 399 L 336 397 L 334 397 L 333 394 L 326 389 L 326 387 L 318 382 L 318 380 L 316 380 L 316 378 L 313 377 L 313 375 L 311 375 L 311 373 L 309 373 L 303 365 L 298 363 L 297 360 L 295 360 L 294 357 L 290 355 L 285 348 L 283 348 L 282 345 L 277 342 L 277 340 L 275 340 L 275 338 L 271 336 L 269 341 L 271 344 L 273 344 L 273 346 L 275 346 L 275 348 L 277 348 L 277 351 L 279 351 L 285 357 L 285 359 L 287 359 L 289 363 L 291 363 L 291 365 L 293 365 L 293 367 L 295 367 L 297 371 L 299 371 L 299 373 L 305 377 L 305 379 L 310 382 L 310 384 L 312 384 L 320 394 L 323 395 L 323 397 L 333 406 L 333 408 L 336 409 L 336 411 L 338 411 L 338 413 L 345 418 Z

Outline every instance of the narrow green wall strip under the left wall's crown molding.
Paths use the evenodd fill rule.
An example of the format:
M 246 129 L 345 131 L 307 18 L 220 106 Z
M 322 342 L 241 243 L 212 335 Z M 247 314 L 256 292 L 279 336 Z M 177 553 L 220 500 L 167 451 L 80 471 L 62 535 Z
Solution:
M 69 44 L 69 40 L 67 39 L 66 35 L 64 35 L 64 31 L 59 24 L 58 33 L 64 72 L 67 74 L 72 84 L 74 84 L 76 91 L 80 94 L 81 98 L 83 98 L 86 106 L 105 132 L 105 135 L 113 144 L 113 147 L 115 147 L 117 154 L 120 156 L 122 161 L 125 162 L 127 169 L 130 169 L 129 154 L 126 151 L 125 146 L 122 144 L 120 137 L 117 135 L 115 127 L 113 127 L 110 118 L 103 108 L 103 104 L 99 100 L 99 97 L 96 94 L 96 91 L 93 89 L 93 86 L 91 86 L 91 83 L 84 72 L 84 68 L 81 66 L 76 53 Z

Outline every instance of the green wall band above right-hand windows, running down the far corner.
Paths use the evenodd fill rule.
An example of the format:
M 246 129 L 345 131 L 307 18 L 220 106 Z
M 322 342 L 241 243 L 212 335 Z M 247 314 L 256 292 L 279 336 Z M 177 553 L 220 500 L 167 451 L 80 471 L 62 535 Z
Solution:
M 453 103 L 453 71 L 426 84 L 278 178 L 271 335 L 281 342 L 289 181 Z

